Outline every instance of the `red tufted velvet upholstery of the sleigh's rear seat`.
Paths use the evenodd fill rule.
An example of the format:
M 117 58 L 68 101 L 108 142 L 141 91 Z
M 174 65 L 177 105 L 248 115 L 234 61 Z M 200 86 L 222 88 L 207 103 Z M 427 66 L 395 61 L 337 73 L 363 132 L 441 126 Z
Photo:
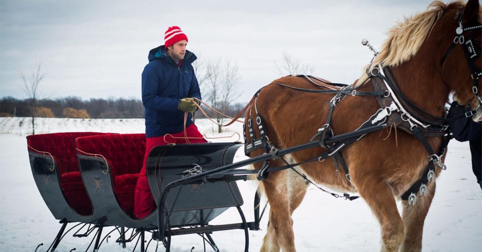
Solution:
M 58 165 L 60 187 L 69 205 L 81 215 L 92 214 L 92 204 L 82 182 L 77 156 L 75 138 L 105 133 L 66 132 L 27 136 L 27 143 L 38 151 L 49 152 Z M 30 151 L 36 152 L 29 148 Z

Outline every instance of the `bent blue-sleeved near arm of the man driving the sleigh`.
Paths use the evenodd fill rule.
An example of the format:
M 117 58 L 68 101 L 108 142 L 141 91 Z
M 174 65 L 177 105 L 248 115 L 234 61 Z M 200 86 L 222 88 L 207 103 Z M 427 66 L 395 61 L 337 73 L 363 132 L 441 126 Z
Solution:
M 147 64 L 142 71 L 142 104 L 157 111 L 176 111 L 179 99 L 160 97 L 157 95 L 161 78 L 155 72 L 153 64 Z

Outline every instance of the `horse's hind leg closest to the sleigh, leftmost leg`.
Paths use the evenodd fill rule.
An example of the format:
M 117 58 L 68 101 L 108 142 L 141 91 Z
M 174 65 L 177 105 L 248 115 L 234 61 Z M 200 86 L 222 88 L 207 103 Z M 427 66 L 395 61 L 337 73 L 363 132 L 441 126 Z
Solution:
M 272 165 L 278 164 L 273 162 Z M 268 231 L 263 239 L 261 251 L 280 251 L 280 248 L 283 251 L 296 251 L 290 211 L 288 173 L 285 171 L 270 173 L 262 183 L 271 210 Z

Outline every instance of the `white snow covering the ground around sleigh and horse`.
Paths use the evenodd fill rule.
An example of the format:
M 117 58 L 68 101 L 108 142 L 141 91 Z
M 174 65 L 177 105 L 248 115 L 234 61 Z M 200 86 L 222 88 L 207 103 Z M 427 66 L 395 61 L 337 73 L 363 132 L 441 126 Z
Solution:
M 25 136 L 30 131 L 29 118 L 0 118 L 0 251 L 34 251 L 38 244 L 44 251 L 60 228 L 42 200 L 35 185 L 27 153 Z M 100 131 L 142 133 L 143 119 L 60 119 L 37 118 L 37 133 L 67 131 Z M 225 133 L 214 133 L 216 126 L 207 120 L 197 120 L 201 132 L 209 136 L 230 136 L 241 132 L 240 124 L 231 125 Z M 214 139 L 215 141 L 235 141 Z M 213 141 L 214 141 L 213 140 Z M 243 151 L 235 161 L 242 160 Z M 445 160 L 448 169 L 437 178 L 437 191 L 425 220 L 424 251 L 482 251 L 482 191 L 471 171 L 467 143 L 451 141 Z M 253 182 L 238 182 L 244 195 L 243 209 L 248 221 L 253 220 Z M 346 201 L 310 187 L 301 206 L 293 214 L 298 251 L 376 251 L 380 249 L 379 224 L 363 201 Z M 235 209 L 228 210 L 213 221 L 239 222 Z M 261 231 L 250 231 L 250 250 L 259 250 L 267 225 L 263 218 Z M 69 227 L 69 226 L 68 226 Z M 240 230 L 214 232 L 213 238 L 221 251 L 243 251 L 244 234 Z M 91 236 L 92 237 L 92 236 Z M 113 242 L 101 251 L 129 251 Z M 59 251 L 85 250 L 86 238 L 69 235 Z M 132 250 L 134 244 L 128 244 Z M 172 238 L 172 251 L 202 251 L 197 235 Z M 154 251 L 155 246 L 149 246 Z M 159 250 L 161 251 L 161 249 Z M 207 251 L 210 251 L 209 248 Z

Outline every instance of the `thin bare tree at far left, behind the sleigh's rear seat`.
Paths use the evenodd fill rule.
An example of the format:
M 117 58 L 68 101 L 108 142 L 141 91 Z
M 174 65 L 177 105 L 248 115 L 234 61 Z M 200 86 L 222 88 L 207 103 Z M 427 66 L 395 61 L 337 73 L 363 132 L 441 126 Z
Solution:
M 42 71 L 42 63 L 37 64 L 30 77 L 26 76 L 22 71 L 20 71 L 19 75 L 24 82 L 23 89 L 28 97 L 29 112 L 32 116 L 32 134 L 35 135 L 35 109 L 37 108 L 38 88 L 40 82 L 45 77 L 45 73 Z

